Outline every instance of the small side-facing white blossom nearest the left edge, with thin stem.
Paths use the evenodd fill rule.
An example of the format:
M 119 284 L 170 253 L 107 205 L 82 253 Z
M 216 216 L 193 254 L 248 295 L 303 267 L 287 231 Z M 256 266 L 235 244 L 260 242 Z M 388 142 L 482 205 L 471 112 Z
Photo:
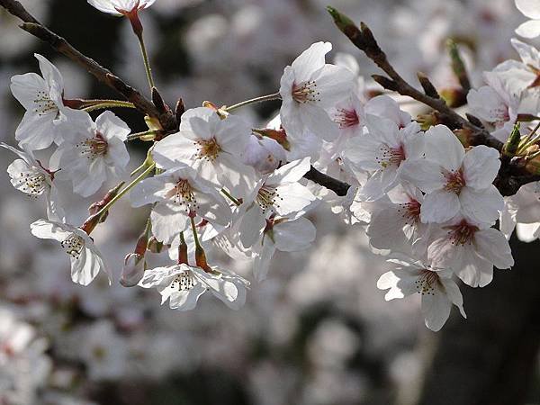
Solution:
M 31 198 L 39 198 L 45 194 L 49 220 L 63 220 L 64 211 L 58 203 L 58 188 L 53 181 L 55 172 L 43 167 L 30 150 L 19 150 L 2 142 L 0 147 L 11 150 L 21 157 L 7 167 L 7 173 L 14 187 Z

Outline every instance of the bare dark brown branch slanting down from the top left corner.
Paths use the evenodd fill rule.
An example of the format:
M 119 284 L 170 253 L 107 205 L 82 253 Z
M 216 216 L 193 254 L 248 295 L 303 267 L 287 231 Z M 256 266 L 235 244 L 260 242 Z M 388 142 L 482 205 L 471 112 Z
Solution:
M 170 111 L 159 111 L 156 106 L 138 90 L 127 85 L 119 76 L 114 75 L 109 69 L 102 67 L 94 59 L 86 57 L 83 53 L 75 49 L 67 40 L 58 34 L 50 31 L 42 25 L 30 13 L 24 9 L 23 5 L 16 0 L 0 0 L 0 6 L 4 7 L 10 14 L 23 20 L 21 28 L 31 35 L 47 42 L 53 49 L 84 67 L 90 74 L 94 75 L 100 82 L 108 85 L 117 93 L 124 96 L 130 103 L 146 115 L 156 118 L 166 131 L 176 131 L 178 124 L 174 114 Z

